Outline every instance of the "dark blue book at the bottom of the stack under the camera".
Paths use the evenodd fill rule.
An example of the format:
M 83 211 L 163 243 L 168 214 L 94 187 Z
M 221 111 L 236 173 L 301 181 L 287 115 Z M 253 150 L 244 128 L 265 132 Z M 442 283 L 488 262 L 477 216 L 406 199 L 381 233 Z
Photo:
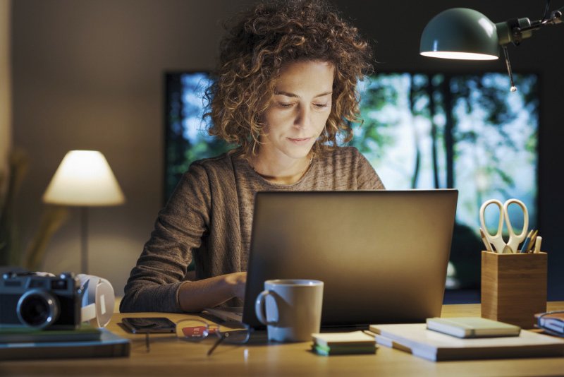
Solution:
M 129 356 L 130 340 L 99 330 L 98 340 L 0 343 L 0 360 Z

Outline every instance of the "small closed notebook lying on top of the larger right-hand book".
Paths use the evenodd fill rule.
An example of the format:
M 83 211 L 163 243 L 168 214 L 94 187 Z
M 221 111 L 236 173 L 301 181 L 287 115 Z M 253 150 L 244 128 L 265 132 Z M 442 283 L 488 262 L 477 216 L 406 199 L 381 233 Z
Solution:
M 521 328 L 481 317 L 427 318 L 427 328 L 455 337 L 518 336 Z

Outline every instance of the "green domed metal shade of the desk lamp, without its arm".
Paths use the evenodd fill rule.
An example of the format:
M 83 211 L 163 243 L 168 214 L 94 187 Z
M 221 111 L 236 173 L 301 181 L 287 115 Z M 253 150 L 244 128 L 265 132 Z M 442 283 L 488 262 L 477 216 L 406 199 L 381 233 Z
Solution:
M 424 28 L 419 54 L 443 59 L 498 59 L 496 24 L 473 9 L 448 9 Z

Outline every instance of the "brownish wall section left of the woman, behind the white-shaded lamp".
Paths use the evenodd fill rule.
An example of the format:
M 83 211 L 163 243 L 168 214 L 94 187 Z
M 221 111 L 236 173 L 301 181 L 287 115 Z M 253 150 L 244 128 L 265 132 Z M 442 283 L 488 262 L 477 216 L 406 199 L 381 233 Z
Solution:
M 214 66 L 219 20 L 243 3 L 13 1 L 13 145 L 30 158 L 16 207 L 24 247 L 65 153 L 100 150 L 126 203 L 89 210 L 90 273 L 123 294 L 162 204 L 164 72 Z M 78 214 L 54 234 L 44 270 L 78 270 Z

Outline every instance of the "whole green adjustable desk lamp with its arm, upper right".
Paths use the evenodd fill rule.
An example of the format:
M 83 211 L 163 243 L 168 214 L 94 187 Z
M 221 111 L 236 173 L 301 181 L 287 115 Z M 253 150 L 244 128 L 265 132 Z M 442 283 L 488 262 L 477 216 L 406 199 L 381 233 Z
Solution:
M 478 11 L 468 8 L 451 8 L 432 18 L 424 28 L 419 44 L 419 54 L 443 59 L 494 60 L 503 49 L 505 65 L 511 82 L 511 91 L 517 88 L 509 62 L 507 45 L 520 44 L 532 32 L 544 25 L 561 23 L 564 7 L 548 14 L 548 4 L 541 20 L 515 18 L 493 23 Z

